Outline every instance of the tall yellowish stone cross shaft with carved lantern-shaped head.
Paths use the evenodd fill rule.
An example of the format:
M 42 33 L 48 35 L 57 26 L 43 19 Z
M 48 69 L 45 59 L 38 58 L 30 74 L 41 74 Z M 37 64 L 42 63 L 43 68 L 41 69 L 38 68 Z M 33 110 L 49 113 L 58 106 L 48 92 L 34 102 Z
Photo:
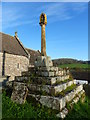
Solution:
M 41 26 L 41 55 L 46 56 L 46 38 L 45 38 L 45 25 L 47 24 L 47 17 L 44 13 L 40 15 Z

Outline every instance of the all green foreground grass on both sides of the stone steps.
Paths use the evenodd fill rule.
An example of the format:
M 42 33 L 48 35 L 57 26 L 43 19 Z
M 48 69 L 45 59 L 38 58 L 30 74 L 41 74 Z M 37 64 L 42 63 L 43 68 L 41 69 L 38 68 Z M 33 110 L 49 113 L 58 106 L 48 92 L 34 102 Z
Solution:
M 35 105 L 34 101 L 26 101 L 25 104 L 19 105 L 13 103 L 10 97 L 6 95 L 6 92 L 3 93 L 2 101 L 2 120 L 13 120 L 13 118 L 15 118 L 15 120 L 17 118 L 20 120 L 27 118 L 28 120 L 31 120 L 31 118 L 38 120 L 60 120 L 55 117 L 57 111 L 41 107 L 40 104 Z M 79 118 L 79 120 L 90 119 L 90 98 L 88 99 L 88 97 L 86 97 L 85 103 L 83 104 L 79 101 L 78 104 L 74 105 L 73 110 L 71 111 L 69 108 L 69 111 L 65 120 L 77 120 L 76 118 Z

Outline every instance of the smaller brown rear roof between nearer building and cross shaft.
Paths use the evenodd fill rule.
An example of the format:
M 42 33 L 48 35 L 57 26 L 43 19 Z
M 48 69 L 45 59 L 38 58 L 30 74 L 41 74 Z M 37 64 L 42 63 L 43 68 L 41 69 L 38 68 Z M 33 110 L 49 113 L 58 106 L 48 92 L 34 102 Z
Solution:
M 30 64 L 34 65 L 35 60 L 37 59 L 37 57 L 41 56 L 40 51 L 39 50 L 36 51 L 36 50 L 28 49 L 28 48 L 26 48 L 26 50 L 30 54 L 30 60 L 29 60 Z

